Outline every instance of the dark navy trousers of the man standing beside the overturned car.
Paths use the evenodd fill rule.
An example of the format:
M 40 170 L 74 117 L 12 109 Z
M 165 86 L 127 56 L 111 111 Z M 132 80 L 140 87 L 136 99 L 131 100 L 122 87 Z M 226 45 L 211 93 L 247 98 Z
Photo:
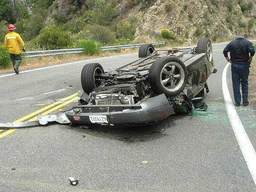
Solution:
M 250 73 L 248 64 L 231 64 L 233 93 L 236 103 L 241 103 L 240 84 L 242 86 L 243 102 L 248 101 L 248 76 Z

